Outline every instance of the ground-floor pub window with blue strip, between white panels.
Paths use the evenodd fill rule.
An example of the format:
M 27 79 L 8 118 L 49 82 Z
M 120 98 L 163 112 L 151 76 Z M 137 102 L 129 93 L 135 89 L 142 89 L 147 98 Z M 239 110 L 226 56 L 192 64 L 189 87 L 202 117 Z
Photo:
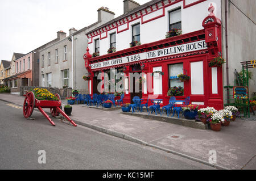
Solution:
M 183 64 L 172 64 L 169 65 L 169 78 L 170 78 L 170 87 L 183 87 L 184 88 L 184 82 L 180 82 L 177 75 L 183 74 Z

